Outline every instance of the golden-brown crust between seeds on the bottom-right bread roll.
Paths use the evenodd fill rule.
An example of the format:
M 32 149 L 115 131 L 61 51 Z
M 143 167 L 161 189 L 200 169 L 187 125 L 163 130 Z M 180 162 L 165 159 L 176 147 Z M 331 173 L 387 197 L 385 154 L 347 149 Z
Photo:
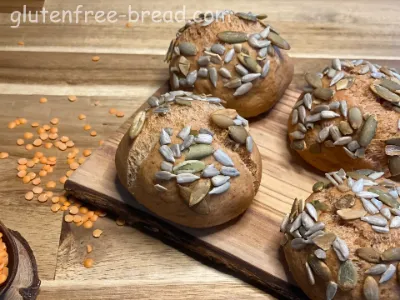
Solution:
M 383 181 L 384 179 L 378 180 L 380 184 L 383 184 Z M 386 183 L 387 182 L 395 184 L 392 181 L 386 180 Z M 344 186 L 347 186 L 347 182 L 345 182 L 345 184 L 340 188 L 343 189 Z M 383 186 L 379 186 L 379 188 L 386 190 Z M 367 188 L 364 188 L 364 190 L 367 190 Z M 382 234 L 375 232 L 370 224 L 361 221 L 360 219 L 353 221 L 342 220 L 336 213 L 337 209 L 335 208 L 335 202 L 343 198 L 344 195 L 352 195 L 355 197 L 355 194 L 351 190 L 341 192 L 337 187 L 331 187 L 321 192 L 311 194 L 305 202 L 313 203 L 313 201 L 318 200 L 327 205 L 327 210 L 325 212 L 319 212 L 318 222 L 325 223 L 325 232 L 334 233 L 345 241 L 350 252 L 349 259 L 355 265 L 357 270 L 358 280 L 356 287 L 351 291 L 343 291 L 338 288 L 334 299 L 366 299 L 363 294 L 363 284 L 367 277 L 365 272 L 376 264 L 365 261 L 358 257 L 355 252 L 358 248 L 372 247 L 382 254 L 389 248 L 400 247 L 400 229 L 391 228 L 389 233 Z M 358 198 L 351 209 L 363 209 L 363 205 Z M 393 217 L 394 216 L 392 216 L 392 218 Z M 290 241 L 283 246 L 289 269 L 298 285 L 311 299 L 322 300 L 326 299 L 326 283 L 315 275 L 316 283 L 311 285 L 305 268 L 305 264 L 310 255 L 312 255 L 317 249 L 318 247 L 316 245 L 308 245 L 304 249 L 295 250 L 292 248 Z M 329 267 L 332 273 L 332 281 L 338 283 L 338 270 L 341 262 L 333 250 L 333 247 L 330 247 L 330 249 L 326 251 L 326 256 L 326 259 L 322 261 Z M 392 263 L 396 268 L 398 265 L 397 261 L 381 261 L 379 263 L 385 264 L 386 266 Z M 400 278 L 398 276 L 400 275 L 395 274 L 389 281 L 379 284 L 379 299 L 398 299 L 400 294 Z M 375 275 L 372 277 L 379 282 L 381 275 Z

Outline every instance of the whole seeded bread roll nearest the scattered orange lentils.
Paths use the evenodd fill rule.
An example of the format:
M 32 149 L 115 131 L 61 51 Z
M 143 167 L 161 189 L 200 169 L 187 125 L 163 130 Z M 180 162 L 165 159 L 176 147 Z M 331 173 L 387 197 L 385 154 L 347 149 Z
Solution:
M 248 122 L 216 97 L 174 91 L 148 101 L 116 153 L 120 181 L 156 215 L 188 227 L 242 214 L 261 181 Z

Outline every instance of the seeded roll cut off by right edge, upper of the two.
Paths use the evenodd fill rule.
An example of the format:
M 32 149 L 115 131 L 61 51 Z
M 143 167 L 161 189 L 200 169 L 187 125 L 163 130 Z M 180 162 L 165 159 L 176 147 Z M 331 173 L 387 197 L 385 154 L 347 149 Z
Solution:
M 324 172 L 373 169 L 399 175 L 399 73 L 363 60 L 334 59 L 305 79 L 310 91 L 289 117 L 291 147 Z

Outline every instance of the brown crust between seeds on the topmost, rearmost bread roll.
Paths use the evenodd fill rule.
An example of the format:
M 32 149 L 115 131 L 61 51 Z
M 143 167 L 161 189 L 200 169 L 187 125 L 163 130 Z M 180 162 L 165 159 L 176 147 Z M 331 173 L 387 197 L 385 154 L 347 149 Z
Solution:
M 200 66 L 197 60 L 200 56 L 204 55 L 204 49 L 211 47 L 215 43 L 221 43 L 225 46 L 226 51 L 233 48 L 233 45 L 224 44 L 217 38 L 217 34 L 223 31 L 239 31 L 249 34 L 259 33 L 265 26 L 259 22 L 250 22 L 242 20 L 235 15 L 230 15 L 230 21 L 226 22 L 213 22 L 212 24 L 202 27 L 199 24 L 194 24 L 188 27 L 177 38 L 177 45 L 181 42 L 190 42 L 196 45 L 197 54 L 195 56 L 186 56 L 190 61 L 190 71 L 199 70 Z M 242 43 L 242 47 L 249 50 L 249 55 L 254 59 L 257 57 L 257 50 L 252 48 L 248 42 Z M 286 88 L 289 86 L 293 77 L 293 63 L 287 56 L 285 50 L 274 47 L 275 55 L 267 55 L 270 61 L 270 70 L 266 78 L 259 78 L 254 80 L 251 90 L 242 96 L 233 96 L 235 89 L 224 87 L 227 80 L 223 80 L 221 75 L 218 75 L 217 87 L 215 88 L 208 78 L 198 78 L 194 84 L 195 93 L 205 93 L 215 95 L 226 101 L 224 104 L 228 108 L 233 108 L 238 111 L 243 117 L 254 117 L 263 112 L 271 109 L 276 102 L 282 97 Z M 174 66 L 178 57 L 172 60 L 170 66 Z M 222 58 L 224 58 L 222 56 Z M 261 66 L 264 65 L 260 63 Z M 229 63 L 210 64 L 209 66 L 225 67 L 232 74 L 232 78 L 240 78 L 241 76 L 235 71 L 235 65 L 239 64 L 237 53 L 235 53 L 232 61 Z M 172 72 L 171 72 L 172 76 Z M 180 75 L 181 78 L 182 74 Z M 172 82 L 172 79 L 171 79 Z M 173 86 L 171 84 L 171 86 Z

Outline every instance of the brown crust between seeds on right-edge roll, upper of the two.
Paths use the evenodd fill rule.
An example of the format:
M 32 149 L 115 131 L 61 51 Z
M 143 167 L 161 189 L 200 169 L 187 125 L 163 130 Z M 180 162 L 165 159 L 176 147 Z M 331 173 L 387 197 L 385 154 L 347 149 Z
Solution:
M 343 146 L 328 147 L 329 145 L 327 146 L 326 141 L 321 142 L 318 138 L 318 134 L 322 128 L 327 126 L 339 127 L 340 122 L 348 121 L 349 117 L 344 118 L 340 113 L 340 109 L 337 109 L 334 111 L 339 113 L 341 115 L 340 117 L 316 122 L 314 128 L 308 130 L 306 133 L 304 138 L 304 150 L 297 150 L 297 152 L 305 161 L 321 171 L 331 172 L 339 168 L 344 168 L 346 171 L 373 169 L 384 171 L 386 175 L 390 175 L 388 169 L 389 157 L 385 154 L 385 141 L 393 137 L 398 137 L 399 113 L 393 110 L 391 104 L 384 101 L 371 91 L 370 85 L 379 83 L 380 79 L 372 78 L 371 73 L 359 75 L 358 71 L 362 67 L 364 67 L 364 65 L 355 67 L 354 69 L 344 70 L 345 77 L 351 76 L 356 79 L 350 89 L 336 90 L 335 86 L 333 86 L 331 89 L 336 90 L 333 98 L 330 101 L 319 101 L 313 97 L 314 102 L 312 108 L 315 108 L 315 106 L 319 104 L 329 104 L 334 101 L 345 100 L 347 101 L 348 109 L 358 107 L 361 110 L 364 115 L 363 124 L 365 124 L 365 117 L 369 115 L 375 116 L 377 120 L 376 134 L 371 143 L 366 147 L 365 156 L 353 159 L 345 152 Z M 394 77 L 392 80 L 397 81 Z M 329 82 L 330 79 L 325 76 L 323 79 L 324 87 L 329 87 Z M 299 100 L 303 99 L 304 94 L 305 93 L 301 95 Z M 309 115 L 310 111 L 306 111 L 307 115 Z M 291 142 L 294 138 L 290 136 L 290 133 L 298 130 L 298 125 L 292 124 L 292 116 L 293 111 L 290 114 L 288 121 L 288 132 Z M 362 126 L 360 129 L 354 130 L 353 134 L 351 134 L 353 140 L 359 140 L 361 129 Z M 328 137 L 327 140 L 332 140 L 332 138 Z

